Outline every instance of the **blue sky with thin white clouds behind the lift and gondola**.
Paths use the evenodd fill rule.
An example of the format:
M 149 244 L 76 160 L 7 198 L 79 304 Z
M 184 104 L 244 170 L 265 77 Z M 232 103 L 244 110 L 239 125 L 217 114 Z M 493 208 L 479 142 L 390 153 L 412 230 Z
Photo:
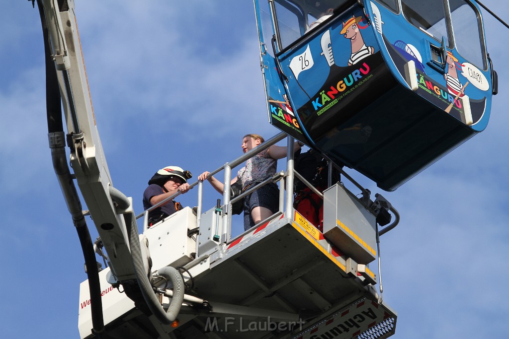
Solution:
M 505 2 L 483 3 L 509 20 Z M 251 1 L 148 4 L 76 1 L 111 177 L 133 197 L 136 214 L 158 169 L 183 167 L 194 182 L 239 156 L 244 134 L 278 133 L 267 122 Z M 509 30 L 483 14 L 499 76 L 488 128 L 397 191 L 382 192 L 401 214 L 381 238 L 384 300 L 399 314 L 394 338 L 491 339 L 506 330 Z M 0 27 L 0 333 L 77 338 L 86 274 L 50 161 L 38 11 L 26 0 L 4 1 Z M 212 206 L 219 195 L 205 188 Z M 180 200 L 194 206 L 194 197 Z

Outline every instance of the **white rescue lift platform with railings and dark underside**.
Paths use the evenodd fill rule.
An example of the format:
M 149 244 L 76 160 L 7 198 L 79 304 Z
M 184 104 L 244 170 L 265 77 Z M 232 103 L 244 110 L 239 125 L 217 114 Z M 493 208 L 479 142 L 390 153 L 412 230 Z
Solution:
M 267 145 L 254 148 L 250 154 L 214 173 L 230 170 L 230 166 L 281 137 L 285 134 L 280 133 L 268 140 Z M 290 155 L 287 164 L 291 167 L 292 163 Z M 288 184 L 295 177 L 301 176 L 295 170 L 290 174 L 287 169 L 266 180 L 283 185 L 280 210 L 236 237 L 231 237 L 232 201 L 197 214 L 201 209 L 198 201 L 196 208 L 185 207 L 150 228 L 145 220 L 143 235 L 148 242 L 155 286 L 165 295 L 159 286 L 161 282 L 157 282 L 157 269 L 179 267 L 188 286 L 184 303 L 173 328 L 151 321 L 127 296 L 110 289 L 102 297 L 108 333 L 118 337 L 136 333 L 141 338 L 157 335 L 161 338 L 319 338 L 321 334 L 338 338 L 385 338 L 392 335 L 397 314 L 378 294 L 378 274 L 369 263 L 378 255 L 380 206 L 397 216 L 383 231 L 396 226 L 397 211 L 380 195 L 372 201 L 367 196 L 369 192 L 363 190 L 362 198 L 357 198 L 343 182 L 337 182 L 323 193 L 322 233 L 293 207 L 286 209 L 288 203 L 290 206 L 293 203 L 293 194 L 288 194 L 291 188 L 285 190 L 284 182 Z M 344 177 L 350 178 L 346 173 Z M 202 184 L 198 181 L 191 186 Z M 201 189 L 198 191 L 200 196 Z M 242 197 L 235 200 L 238 198 Z M 139 217 L 146 219 L 147 212 Z M 106 279 L 108 270 L 100 274 L 101 289 L 106 291 L 110 286 Z M 82 338 L 93 337 L 88 299 L 88 284 L 83 282 L 79 299 Z M 169 303 L 166 296 L 161 301 L 163 305 Z M 109 323 L 107 318 L 111 318 Z

